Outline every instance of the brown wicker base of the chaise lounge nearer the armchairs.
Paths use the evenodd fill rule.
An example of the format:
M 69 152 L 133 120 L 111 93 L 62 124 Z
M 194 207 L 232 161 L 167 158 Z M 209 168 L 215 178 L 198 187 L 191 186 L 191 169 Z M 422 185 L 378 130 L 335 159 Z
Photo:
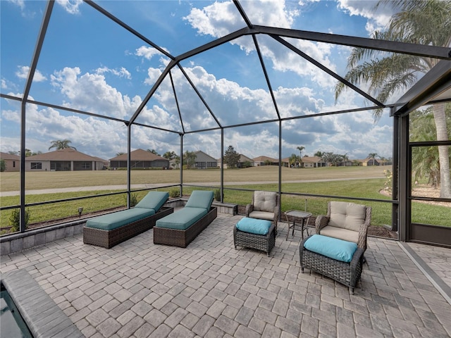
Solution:
M 186 248 L 218 215 L 218 209 L 211 207 L 209 213 L 186 230 L 154 227 L 154 244 L 164 244 Z

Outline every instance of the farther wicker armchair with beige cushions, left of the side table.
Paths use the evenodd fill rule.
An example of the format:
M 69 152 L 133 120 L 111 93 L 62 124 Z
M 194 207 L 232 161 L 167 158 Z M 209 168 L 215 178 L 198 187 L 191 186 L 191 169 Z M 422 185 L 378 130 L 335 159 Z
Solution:
M 277 234 L 280 201 L 277 192 L 254 192 L 252 203 L 246 206 L 246 217 L 271 220 Z

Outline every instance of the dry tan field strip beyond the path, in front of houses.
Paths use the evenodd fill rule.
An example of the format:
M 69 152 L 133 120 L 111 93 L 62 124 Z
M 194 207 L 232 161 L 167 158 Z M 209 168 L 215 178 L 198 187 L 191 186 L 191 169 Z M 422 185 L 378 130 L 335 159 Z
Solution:
M 383 178 L 383 170 L 391 170 L 391 166 L 372 167 L 328 167 L 328 168 L 282 168 L 282 179 L 285 182 L 305 180 L 327 180 L 340 178 Z M 221 171 L 183 170 L 183 182 L 220 182 Z M 132 184 L 154 184 L 180 182 L 180 170 L 132 170 Z M 266 165 L 262 167 L 224 170 L 224 182 L 277 182 L 278 167 Z M 101 171 L 56 171 L 25 173 L 25 189 L 53 189 L 66 187 L 93 187 L 127 183 L 125 170 Z M 0 192 L 20 190 L 19 173 L 1 173 Z

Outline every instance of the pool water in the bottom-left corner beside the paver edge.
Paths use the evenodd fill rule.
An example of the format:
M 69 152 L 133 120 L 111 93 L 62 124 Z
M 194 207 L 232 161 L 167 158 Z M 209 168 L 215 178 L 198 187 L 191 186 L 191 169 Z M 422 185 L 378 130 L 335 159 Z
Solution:
M 0 285 L 0 323 L 1 338 L 33 337 L 3 284 Z

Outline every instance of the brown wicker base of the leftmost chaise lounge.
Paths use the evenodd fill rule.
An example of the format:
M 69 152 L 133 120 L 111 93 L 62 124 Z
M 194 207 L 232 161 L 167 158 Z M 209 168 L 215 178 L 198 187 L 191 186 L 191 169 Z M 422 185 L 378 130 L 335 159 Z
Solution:
M 83 243 L 102 246 L 110 249 L 116 244 L 122 243 L 127 239 L 135 237 L 144 231 L 152 229 L 155 226 L 156 220 L 163 218 L 166 215 L 174 212 L 174 208 L 162 207 L 159 212 L 154 215 L 142 218 L 122 227 L 113 230 L 96 229 L 94 227 L 83 227 Z

